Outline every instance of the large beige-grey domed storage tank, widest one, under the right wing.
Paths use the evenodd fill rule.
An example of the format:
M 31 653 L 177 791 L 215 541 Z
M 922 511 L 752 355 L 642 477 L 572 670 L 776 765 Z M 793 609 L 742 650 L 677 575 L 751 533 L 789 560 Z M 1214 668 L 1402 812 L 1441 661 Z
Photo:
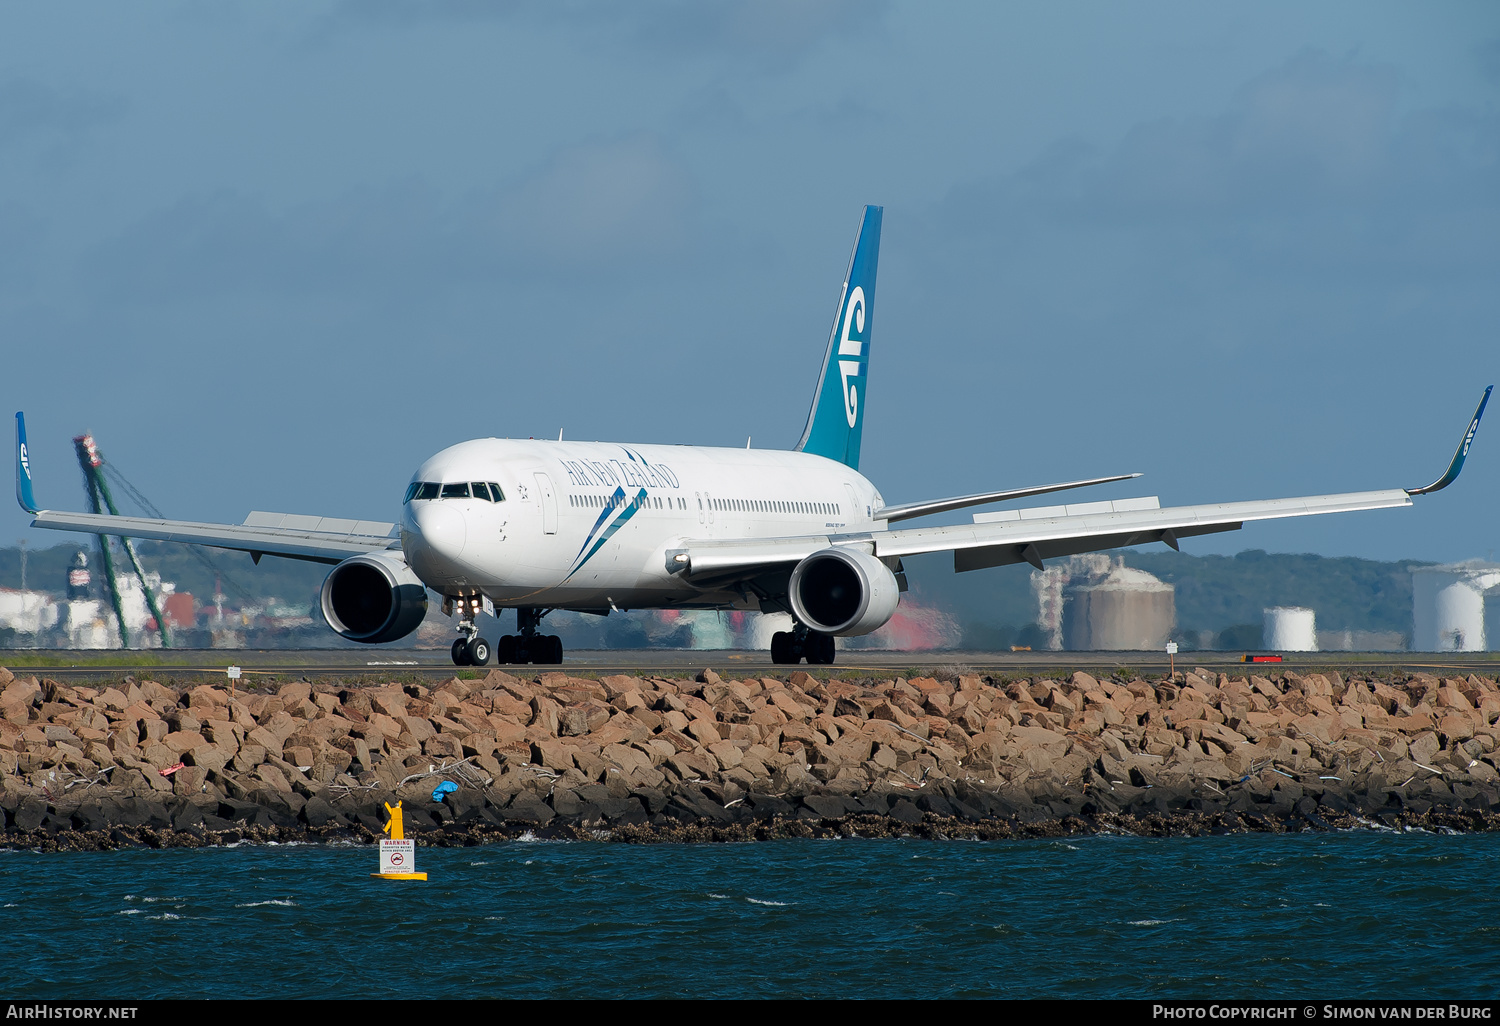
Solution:
M 1062 633 L 1071 651 L 1154 651 L 1167 644 L 1174 590 L 1122 562 L 1064 591 Z

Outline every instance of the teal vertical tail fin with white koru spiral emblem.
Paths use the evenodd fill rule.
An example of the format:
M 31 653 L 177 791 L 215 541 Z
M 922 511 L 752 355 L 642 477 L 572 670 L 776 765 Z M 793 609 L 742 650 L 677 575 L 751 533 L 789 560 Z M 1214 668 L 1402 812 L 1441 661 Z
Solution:
M 796 452 L 826 456 L 860 468 L 860 434 L 870 370 L 870 333 L 874 327 L 874 272 L 880 261 L 882 207 L 866 207 L 854 240 L 849 273 L 838 315 L 828 336 L 828 354 L 818 376 L 813 408 Z

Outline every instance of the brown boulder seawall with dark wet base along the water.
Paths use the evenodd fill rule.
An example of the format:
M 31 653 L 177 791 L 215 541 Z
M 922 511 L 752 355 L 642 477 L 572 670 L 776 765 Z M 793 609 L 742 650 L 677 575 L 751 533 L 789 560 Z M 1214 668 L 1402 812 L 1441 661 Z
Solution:
M 1024 837 L 1500 825 L 1482 676 L 698 680 L 266 692 L 0 669 L 0 843 Z M 434 801 L 435 784 L 458 790 Z

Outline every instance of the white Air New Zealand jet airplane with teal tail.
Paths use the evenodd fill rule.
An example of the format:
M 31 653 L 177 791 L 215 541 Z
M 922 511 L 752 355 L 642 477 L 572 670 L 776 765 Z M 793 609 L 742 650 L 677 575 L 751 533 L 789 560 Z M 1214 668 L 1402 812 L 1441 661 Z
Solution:
M 792 616 L 777 663 L 834 662 L 834 638 L 867 634 L 904 591 L 902 556 L 952 552 L 954 570 L 1042 566 L 1074 552 L 1236 531 L 1250 520 L 1410 506 L 1462 468 L 1490 388 L 1448 471 L 1425 488 L 1161 508 L 1155 498 L 974 514 L 972 524 L 892 530 L 934 513 L 1119 482 L 1136 474 L 888 506 L 860 474 L 880 207 L 866 207 L 802 436 L 790 452 L 478 438 L 412 474 L 400 524 L 250 513 L 192 524 L 38 508 L 16 414 L 16 496 L 32 526 L 207 544 L 333 564 L 322 615 L 350 640 L 381 644 L 422 624 L 428 592 L 458 615 L 453 662 L 483 666 L 474 621 L 486 600 L 514 609 L 501 663 L 560 663 L 543 634 L 554 609 L 758 609 Z

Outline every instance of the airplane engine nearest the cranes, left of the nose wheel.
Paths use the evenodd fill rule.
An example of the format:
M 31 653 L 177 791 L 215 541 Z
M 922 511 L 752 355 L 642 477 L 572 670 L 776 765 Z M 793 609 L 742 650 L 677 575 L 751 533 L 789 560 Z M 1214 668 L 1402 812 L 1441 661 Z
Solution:
M 428 615 L 428 588 L 393 552 L 368 552 L 333 567 L 322 582 L 322 618 L 350 640 L 405 638 Z

